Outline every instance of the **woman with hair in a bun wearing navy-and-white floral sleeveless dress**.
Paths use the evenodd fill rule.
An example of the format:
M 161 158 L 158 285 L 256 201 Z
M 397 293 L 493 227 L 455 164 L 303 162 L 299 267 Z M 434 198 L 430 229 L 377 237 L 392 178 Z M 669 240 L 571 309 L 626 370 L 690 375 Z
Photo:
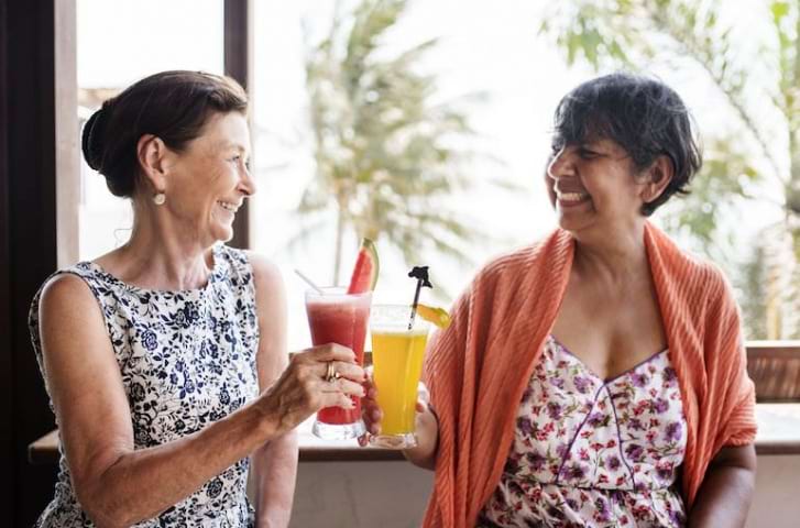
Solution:
M 86 123 L 86 161 L 131 200 L 133 231 L 31 308 L 62 442 L 37 526 L 286 526 L 293 429 L 363 392 L 349 349 L 288 361 L 278 271 L 222 244 L 255 191 L 246 107 L 229 78 L 166 72 Z

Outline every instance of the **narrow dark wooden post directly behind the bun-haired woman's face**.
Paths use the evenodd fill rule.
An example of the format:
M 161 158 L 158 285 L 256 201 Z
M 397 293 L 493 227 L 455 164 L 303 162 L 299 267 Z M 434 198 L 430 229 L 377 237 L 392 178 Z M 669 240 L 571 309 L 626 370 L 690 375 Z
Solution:
M 248 90 L 248 0 L 224 0 L 224 74 L 237 79 Z M 248 200 L 233 221 L 233 248 L 250 248 L 250 206 Z

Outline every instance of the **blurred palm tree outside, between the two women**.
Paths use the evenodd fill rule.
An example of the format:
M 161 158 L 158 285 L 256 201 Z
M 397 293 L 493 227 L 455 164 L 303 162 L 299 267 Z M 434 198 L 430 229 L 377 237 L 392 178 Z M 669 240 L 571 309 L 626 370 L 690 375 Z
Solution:
M 351 233 L 385 239 L 407 262 L 419 262 L 426 250 L 469 262 L 464 242 L 486 237 L 441 200 L 469 185 L 474 132 L 461 106 L 484 96 L 436 102 L 436 78 L 418 72 L 436 40 L 386 56 L 382 38 L 406 7 L 406 0 L 363 0 L 348 16 L 337 10 L 328 35 L 308 45 L 317 174 L 297 212 L 336 209 L 335 283 Z

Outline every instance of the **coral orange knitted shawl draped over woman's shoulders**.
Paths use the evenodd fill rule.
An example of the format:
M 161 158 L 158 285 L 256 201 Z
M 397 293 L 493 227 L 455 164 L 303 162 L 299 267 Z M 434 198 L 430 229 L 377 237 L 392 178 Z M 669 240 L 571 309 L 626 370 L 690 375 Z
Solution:
M 689 510 L 720 449 L 754 441 L 755 391 L 738 310 L 721 272 L 681 252 L 649 222 L 644 238 L 689 426 L 682 468 Z M 559 229 L 492 262 L 456 304 L 450 328 L 434 338 L 424 377 L 439 447 L 426 527 L 474 526 L 500 482 L 518 403 L 556 319 L 573 253 L 572 237 Z

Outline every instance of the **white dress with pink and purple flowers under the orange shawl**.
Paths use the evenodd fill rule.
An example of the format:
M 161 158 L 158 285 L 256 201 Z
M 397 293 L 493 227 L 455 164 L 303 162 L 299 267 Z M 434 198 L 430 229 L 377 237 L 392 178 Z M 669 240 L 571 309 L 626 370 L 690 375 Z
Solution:
M 680 527 L 687 424 L 667 351 L 604 381 L 555 338 L 482 527 Z

